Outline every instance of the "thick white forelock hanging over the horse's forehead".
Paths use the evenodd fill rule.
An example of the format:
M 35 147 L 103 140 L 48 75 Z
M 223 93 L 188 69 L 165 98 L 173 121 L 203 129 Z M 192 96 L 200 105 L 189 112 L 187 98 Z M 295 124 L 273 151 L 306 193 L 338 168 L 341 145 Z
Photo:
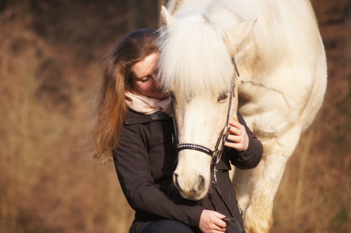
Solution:
M 184 97 L 229 89 L 233 67 L 224 32 L 199 13 L 161 29 L 159 80 Z

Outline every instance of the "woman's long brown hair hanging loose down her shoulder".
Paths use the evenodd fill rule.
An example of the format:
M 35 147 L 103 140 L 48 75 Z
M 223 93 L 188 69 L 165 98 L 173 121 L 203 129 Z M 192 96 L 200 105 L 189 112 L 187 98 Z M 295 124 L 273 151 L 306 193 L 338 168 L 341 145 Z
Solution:
M 158 51 L 156 40 L 153 29 L 131 32 L 103 59 L 90 109 L 87 149 L 91 161 L 111 159 L 125 122 L 125 91 L 131 88 L 131 66 Z

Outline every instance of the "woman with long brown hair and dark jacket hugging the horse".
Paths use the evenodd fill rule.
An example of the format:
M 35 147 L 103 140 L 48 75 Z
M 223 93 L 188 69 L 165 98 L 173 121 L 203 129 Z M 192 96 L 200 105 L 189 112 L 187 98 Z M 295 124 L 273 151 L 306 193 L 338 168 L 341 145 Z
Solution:
M 122 191 L 135 210 L 131 233 L 230 232 L 221 220 L 230 217 L 215 191 L 200 201 L 183 199 L 172 186 L 177 153 L 172 145 L 171 99 L 157 80 L 157 32 L 141 29 L 128 34 L 107 56 L 93 124 L 93 157 L 113 155 Z M 218 183 L 243 227 L 228 175 L 229 159 L 239 168 L 257 166 L 262 145 L 238 114 L 230 122 L 226 155 Z M 229 158 L 229 159 L 228 159 Z M 215 211 L 216 209 L 220 211 Z M 219 213 L 220 212 L 220 213 Z

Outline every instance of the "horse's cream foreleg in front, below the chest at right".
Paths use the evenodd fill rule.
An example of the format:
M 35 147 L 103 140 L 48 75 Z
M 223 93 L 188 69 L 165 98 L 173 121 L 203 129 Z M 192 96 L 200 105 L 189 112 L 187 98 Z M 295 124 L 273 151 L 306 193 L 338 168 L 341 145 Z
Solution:
M 277 193 L 286 162 L 298 143 L 300 133 L 301 127 L 296 126 L 279 137 L 262 141 L 264 147 L 262 160 L 256 168 L 246 172 L 247 195 L 250 196 L 249 205 L 244 206 L 247 207 L 244 217 L 247 233 L 270 231 L 273 224 L 274 195 Z M 237 173 L 240 172 L 236 171 L 236 175 L 239 175 Z M 238 193 L 240 195 L 239 190 Z M 241 198 L 245 201 L 245 197 Z

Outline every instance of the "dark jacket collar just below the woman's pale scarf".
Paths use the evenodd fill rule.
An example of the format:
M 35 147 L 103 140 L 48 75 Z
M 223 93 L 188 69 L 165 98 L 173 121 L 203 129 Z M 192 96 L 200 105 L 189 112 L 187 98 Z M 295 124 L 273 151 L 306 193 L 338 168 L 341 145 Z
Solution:
M 148 122 L 158 121 L 158 120 L 172 120 L 172 118 L 168 116 L 166 113 L 163 113 L 161 111 L 157 111 L 149 115 L 144 115 L 129 109 L 126 115 L 125 124 L 126 125 L 143 124 L 143 123 L 148 123 Z

